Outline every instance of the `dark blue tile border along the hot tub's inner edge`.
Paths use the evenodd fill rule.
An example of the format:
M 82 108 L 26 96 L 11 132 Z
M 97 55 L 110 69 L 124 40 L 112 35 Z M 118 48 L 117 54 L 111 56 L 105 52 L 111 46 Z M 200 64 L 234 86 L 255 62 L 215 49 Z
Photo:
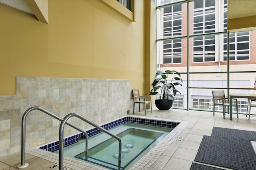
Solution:
M 102 125 L 101 127 L 103 127 L 104 129 L 110 129 L 112 127 L 115 127 L 115 126 L 120 125 L 125 122 L 139 123 L 139 124 L 143 124 L 143 125 L 153 125 L 153 126 L 160 126 L 160 127 L 169 127 L 169 128 L 175 128 L 180 123 L 180 122 L 145 119 L 145 118 L 138 118 L 138 117 L 123 117 L 121 119 L 112 121 L 110 123 L 106 123 L 105 125 Z M 93 129 L 86 131 L 86 133 L 88 134 L 88 137 L 96 135 L 100 132 L 101 132 L 101 130 L 99 130 L 97 128 L 93 128 Z M 64 147 L 72 145 L 74 143 L 77 143 L 79 137 L 84 137 L 84 134 L 79 133 L 77 135 L 65 138 L 64 139 Z M 59 149 L 59 141 L 41 146 L 41 147 L 39 147 L 39 149 L 47 150 L 49 152 L 54 152 Z

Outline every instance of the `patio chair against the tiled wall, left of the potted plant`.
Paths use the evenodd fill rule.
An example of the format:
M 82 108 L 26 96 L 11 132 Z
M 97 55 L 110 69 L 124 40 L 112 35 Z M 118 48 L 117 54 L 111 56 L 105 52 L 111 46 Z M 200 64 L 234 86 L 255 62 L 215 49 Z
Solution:
M 135 104 L 139 104 L 139 111 L 140 111 L 140 104 L 144 104 L 145 106 L 145 115 L 146 115 L 146 104 L 150 104 L 151 113 L 152 113 L 152 103 L 151 103 L 151 96 L 140 96 L 140 91 L 138 89 L 132 90 L 132 98 L 133 98 L 133 114 Z M 149 98 L 150 101 L 146 101 L 146 98 Z

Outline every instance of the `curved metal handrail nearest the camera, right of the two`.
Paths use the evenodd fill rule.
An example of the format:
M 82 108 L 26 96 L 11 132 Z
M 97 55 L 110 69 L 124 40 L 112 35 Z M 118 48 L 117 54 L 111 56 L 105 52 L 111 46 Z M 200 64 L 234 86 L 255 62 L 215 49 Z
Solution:
M 120 137 L 114 135 L 114 133 L 111 133 L 110 131 L 107 131 L 106 129 L 104 129 L 103 127 L 97 125 L 96 123 L 93 123 L 92 121 L 86 119 L 85 117 L 79 115 L 78 113 L 70 113 L 68 115 L 66 115 L 66 117 L 64 117 L 64 119 L 62 120 L 62 122 L 60 123 L 60 149 L 59 149 L 59 170 L 63 170 L 63 150 L 64 150 L 64 125 L 65 123 L 68 121 L 68 119 L 70 117 L 78 117 L 80 119 L 82 119 L 83 121 L 85 121 L 86 123 L 89 123 L 90 125 L 100 129 L 101 131 L 107 133 L 108 135 L 116 138 L 118 140 L 119 143 L 119 152 L 118 152 L 118 170 L 120 170 L 121 168 L 121 151 L 122 151 L 122 143 L 121 143 L 121 139 Z

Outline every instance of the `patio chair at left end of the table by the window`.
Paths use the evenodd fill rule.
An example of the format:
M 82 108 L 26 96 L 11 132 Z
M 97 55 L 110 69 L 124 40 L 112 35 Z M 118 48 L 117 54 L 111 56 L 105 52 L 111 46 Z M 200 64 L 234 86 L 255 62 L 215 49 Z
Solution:
M 228 103 L 228 100 L 230 100 L 230 98 L 226 98 L 225 97 L 225 93 L 224 90 L 213 90 L 212 91 L 212 100 L 213 100 L 213 115 L 215 112 L 215 105 L 221 105 L 223 108 L 223 118 L 225 119 L 225 114 L 226 114 L 226 106 L 230 106 L 230 104 Z M 238 106 L 237 106 L 237 99 L 232 99 L 232 100 L 236 100 L 235 104 L 232 104 L 232 106 L 236 106 L 236 115 L 238 118 Z M 232 101 L 230 101 L 232 102 Z M 230 114 L 232 113 L 232 108 L 230 108 Z

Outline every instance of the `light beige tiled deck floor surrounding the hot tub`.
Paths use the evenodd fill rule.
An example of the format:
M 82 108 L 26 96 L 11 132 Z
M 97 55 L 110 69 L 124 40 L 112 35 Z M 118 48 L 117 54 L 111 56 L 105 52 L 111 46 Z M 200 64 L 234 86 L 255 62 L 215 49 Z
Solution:
M 245 115 L 239 115 L 239 118 L 233 116 L 233 120 L 230 121 L 229 116 L 223 119 L 222 113 L 213 116 L 212 112 L 208 111 L 180 109 L 160 111 L 155 108 L 153 113 L 148 111 L 147 116 L 144 116 L 144 113 L 142 110 L 129 116 L 180 121 L 181 123 L 130 170 L 189 170 L 203 135 L 211 135 L 213 126 L 256 131 L 256 117 L 253 116 L 250 120 Z M 56 167 L 58 154 L 42 149 L 27 149 L 26 162 L 30 165 L 23 170 L 58 170 Z M 0 169 L 2 170 L 16 170 L 18 164 L 20 164 L 20 153 L 0 157 Z M 104 170 L 104 168 L 67 157 L 64 157 L 64 166 L 68 167 L 68 170 Z

